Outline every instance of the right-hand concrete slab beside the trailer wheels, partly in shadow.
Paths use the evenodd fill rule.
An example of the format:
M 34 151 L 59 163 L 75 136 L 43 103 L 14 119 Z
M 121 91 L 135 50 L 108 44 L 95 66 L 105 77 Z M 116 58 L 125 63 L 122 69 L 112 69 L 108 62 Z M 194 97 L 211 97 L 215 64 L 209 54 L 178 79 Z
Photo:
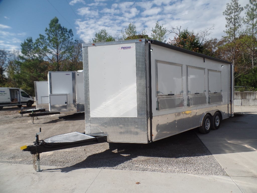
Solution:
M 257 107 L 235 106 L 241 113 L 218 130 L 198 137 L 242 192 L 257 192 Z

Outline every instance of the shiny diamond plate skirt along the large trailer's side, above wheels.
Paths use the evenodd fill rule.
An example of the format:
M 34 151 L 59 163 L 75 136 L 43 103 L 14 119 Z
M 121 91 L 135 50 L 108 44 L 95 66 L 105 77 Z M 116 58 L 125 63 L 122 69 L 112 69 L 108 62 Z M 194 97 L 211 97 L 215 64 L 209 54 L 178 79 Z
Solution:
M 214 115 L 214 113 L 218 110 L 222 113 L 222 119 L 226 119 L 229 117 L 230 114 L 228 112 L 227 104 L 222 106 L 155 116 L 152 120 L 153 141 L 157 141 L 159 139 L 199 127 L 206 113 Z

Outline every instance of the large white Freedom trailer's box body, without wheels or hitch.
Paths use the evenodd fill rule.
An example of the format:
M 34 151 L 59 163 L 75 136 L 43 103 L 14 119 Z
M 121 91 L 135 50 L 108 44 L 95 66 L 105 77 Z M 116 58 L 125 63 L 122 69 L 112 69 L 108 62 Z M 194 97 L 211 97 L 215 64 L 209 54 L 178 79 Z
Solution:
M 152 51 L 151 51 L 152 50 Z M 85 133 L 149 143 L 233 116 L 233 65 L 159 41 L 82 44 Z

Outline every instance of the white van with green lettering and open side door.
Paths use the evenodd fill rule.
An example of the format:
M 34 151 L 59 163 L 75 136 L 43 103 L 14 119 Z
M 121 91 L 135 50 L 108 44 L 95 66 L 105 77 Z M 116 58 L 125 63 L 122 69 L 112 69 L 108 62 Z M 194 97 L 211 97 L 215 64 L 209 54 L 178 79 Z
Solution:
M 21 107 L 22 105 L 31 107 L 33 103 L 34 99 L 22 89 L 0 87 L 0 109 L 7 106 Z

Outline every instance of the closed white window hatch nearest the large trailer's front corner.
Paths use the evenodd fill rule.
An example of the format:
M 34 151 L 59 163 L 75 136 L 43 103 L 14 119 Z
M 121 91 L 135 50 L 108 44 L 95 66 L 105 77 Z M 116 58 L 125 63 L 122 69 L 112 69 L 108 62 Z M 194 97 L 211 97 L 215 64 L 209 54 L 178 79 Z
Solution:
M 159 91 L 159 92 L 158 92 Z M 181 94 L 182 65 L 157 61 L 157 92 L 158 95 Z

